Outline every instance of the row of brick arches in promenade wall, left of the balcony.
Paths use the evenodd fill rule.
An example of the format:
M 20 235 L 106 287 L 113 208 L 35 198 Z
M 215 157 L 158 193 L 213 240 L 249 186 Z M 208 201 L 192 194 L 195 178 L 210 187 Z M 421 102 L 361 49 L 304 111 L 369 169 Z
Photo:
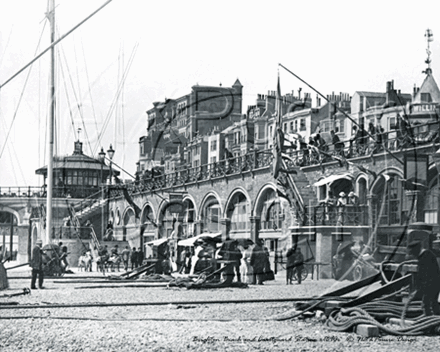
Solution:
M 111 214 L 117 213 L 118 209 L 111 210 Z M 131 229 L 144 225 L 150 236 L 154 232 L 158 238 L 162 238 L 172 235 L 174 223 L 178 221 L 182 225 L 183 237 L 204 232 L 222 232 L 224 226 L 228 226 L 233 236 L 248 238 L 251 231 L 250 217 L 259 219 L 261 229 L 287 228 L 292 221 L 287 200 L 278 198 L 275 185 L 267 183 L 261 187 L 255 199 L 243 187 L 237 187 L 227 199 L 222 199 L 218 192 L 211 190 L 199 203 L 190 193 L 182 198 L 182 202 L 162 200 L 157 209 L 146 202 L 139 218 L 128 207 L 121 217 L 123 221 L 115 225 Z

